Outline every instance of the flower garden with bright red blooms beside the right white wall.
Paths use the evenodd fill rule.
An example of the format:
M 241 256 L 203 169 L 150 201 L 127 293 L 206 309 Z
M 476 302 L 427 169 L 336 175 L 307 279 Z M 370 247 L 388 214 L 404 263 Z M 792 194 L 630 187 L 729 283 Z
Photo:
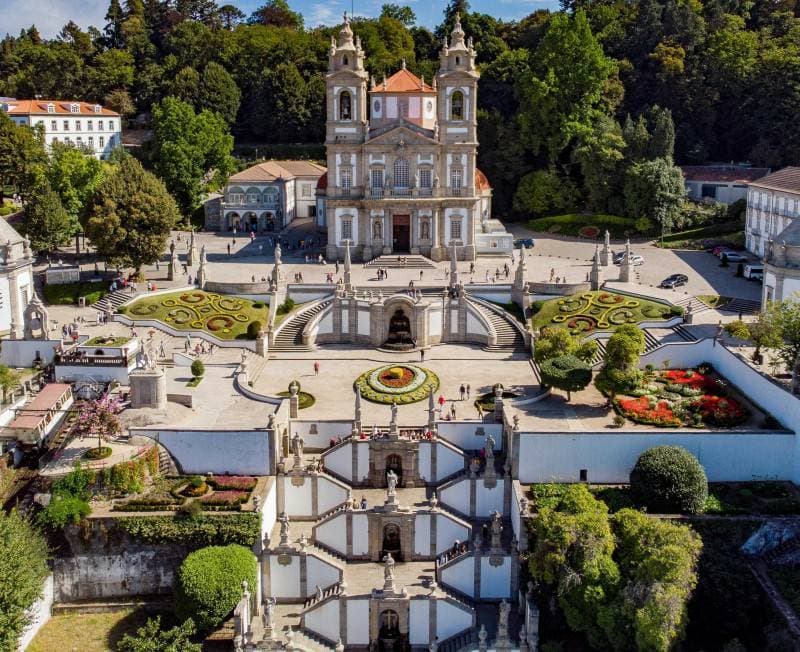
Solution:
M 710 365 L 699 369 L 645 371 L 629 396 L 614 399 L 623 416 L 636 423 L 667 427 L 733 428 L 750 418 L 731 386 Z

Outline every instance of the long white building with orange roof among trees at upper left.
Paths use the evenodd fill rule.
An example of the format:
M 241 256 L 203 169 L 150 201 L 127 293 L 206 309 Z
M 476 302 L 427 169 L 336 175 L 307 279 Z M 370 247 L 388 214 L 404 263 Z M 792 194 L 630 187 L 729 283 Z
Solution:
M 6 98 L 0 106 L 17 124 L 40 126 L 48 147 L 56 142 L 86 147 L 97 158 L 106 159 L 122 143 L 119 113 L 99 104 L 78 100 Z

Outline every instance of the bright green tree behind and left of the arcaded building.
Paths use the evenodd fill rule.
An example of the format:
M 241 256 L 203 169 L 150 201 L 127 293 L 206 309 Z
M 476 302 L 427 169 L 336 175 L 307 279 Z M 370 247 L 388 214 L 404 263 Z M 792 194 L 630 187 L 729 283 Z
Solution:
M 189 215 L 210 183 L 221 183 L 232 169 L 233 137 L 222 117 L 168 97 L 153 107 L 153 167 Z M 208 179 L 211 179 L 209 183 Z

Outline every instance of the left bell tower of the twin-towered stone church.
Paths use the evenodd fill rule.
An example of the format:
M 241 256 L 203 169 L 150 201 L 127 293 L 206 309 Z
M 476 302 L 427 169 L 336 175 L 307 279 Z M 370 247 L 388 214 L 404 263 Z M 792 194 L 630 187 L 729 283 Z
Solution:
M 347 14 L 328 51 L 326 142 L 363 142 L 367 129 L 367 72 L 361 39 L 353 38 Z

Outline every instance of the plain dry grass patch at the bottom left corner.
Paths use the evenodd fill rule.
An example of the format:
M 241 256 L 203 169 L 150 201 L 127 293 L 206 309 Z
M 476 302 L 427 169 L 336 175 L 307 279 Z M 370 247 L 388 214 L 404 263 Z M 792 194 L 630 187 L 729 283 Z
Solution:
M 53 616 L 39 630 L 28 652 L 105 652 L 116 650 L 125 635 L 144 625 L 142 609 L 122 609 L 100 614 Z

